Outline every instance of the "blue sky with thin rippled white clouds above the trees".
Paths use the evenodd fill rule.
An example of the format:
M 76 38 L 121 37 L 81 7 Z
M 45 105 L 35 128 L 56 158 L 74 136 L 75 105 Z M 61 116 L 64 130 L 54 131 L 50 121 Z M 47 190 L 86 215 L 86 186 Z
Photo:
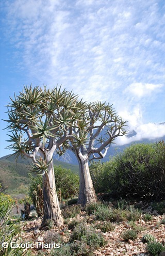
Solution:
M 1 0 L 1 119 L 23 85 L 73 90 L 107 101 L 134 138 L 158 139 L 164 125 L 163 0 Z M 1 156 L 12 153 L 1 121 Z

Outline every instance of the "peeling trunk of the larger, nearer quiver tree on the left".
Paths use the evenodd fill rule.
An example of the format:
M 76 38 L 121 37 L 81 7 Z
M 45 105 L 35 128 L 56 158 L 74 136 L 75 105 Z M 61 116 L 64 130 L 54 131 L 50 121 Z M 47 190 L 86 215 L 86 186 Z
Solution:
M 51 160 L 52 156 L 47 155 L 47 163 Z M 59 206 L 59 201 L 56 192 L 55 175 L 53 159 L 48 166 L 47 173 L 43 176 L 43 202 L 44 202 L 44 216 L 42 226 L 45 226 L 48 220 L 53 220 L 56 226 L 63 225 L 63 217 Z

